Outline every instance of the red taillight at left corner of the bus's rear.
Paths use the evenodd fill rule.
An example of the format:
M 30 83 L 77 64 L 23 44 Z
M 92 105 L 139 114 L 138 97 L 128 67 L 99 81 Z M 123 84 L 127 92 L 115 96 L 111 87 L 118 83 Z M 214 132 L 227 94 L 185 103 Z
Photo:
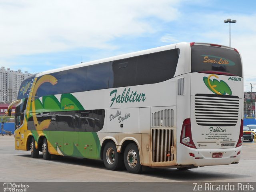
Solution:
M 180 143 L 182 143 L 188 147 L 191 147 L 191 148 L 196 148 L 196 146 L 192 140 L 190 118 L 187 118 L 183 121 L 181 135 L 180 135 Z

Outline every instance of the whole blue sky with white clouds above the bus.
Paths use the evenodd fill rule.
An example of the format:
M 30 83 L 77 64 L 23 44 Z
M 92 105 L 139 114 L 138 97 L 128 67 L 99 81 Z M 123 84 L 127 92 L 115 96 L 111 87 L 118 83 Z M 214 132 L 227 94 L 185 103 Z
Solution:
M 0 66 L 41 72 L 176 42 L 229 45 L 256 91 L 254 0 L 0 0 Z

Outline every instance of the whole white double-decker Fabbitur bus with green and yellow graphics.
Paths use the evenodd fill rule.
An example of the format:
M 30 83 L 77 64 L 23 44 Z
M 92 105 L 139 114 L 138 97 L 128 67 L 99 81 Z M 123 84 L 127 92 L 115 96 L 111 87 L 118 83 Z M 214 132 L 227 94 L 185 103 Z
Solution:
M 177 43 L 41 72 L 16 104 L 15 148 L 142 166 L 238 163 L 243 142 L 240 54 Z

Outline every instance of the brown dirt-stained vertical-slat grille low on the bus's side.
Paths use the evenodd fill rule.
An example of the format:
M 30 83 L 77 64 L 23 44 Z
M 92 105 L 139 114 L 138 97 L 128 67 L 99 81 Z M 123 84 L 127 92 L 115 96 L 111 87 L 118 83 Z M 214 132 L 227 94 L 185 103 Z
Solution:
M 172 162 L 174 160 L 174 130 L 152 129 L 152 161 Z

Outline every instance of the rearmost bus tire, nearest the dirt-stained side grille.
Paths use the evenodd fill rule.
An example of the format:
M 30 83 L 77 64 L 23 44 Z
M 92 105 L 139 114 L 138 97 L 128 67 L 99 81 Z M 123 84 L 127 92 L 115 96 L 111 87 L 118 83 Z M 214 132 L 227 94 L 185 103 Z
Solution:
M 124 150 L 124 165 L 126 170 L 130 173 L 142 173 L 140 153 L 136 144 L 130 143 L 128 146 L 126 146 Z

